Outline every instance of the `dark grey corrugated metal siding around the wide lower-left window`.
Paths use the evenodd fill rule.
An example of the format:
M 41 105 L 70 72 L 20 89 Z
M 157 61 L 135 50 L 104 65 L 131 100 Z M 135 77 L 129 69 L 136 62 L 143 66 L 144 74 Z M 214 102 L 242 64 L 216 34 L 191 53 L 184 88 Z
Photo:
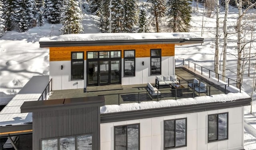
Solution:
M 40 140 L 92 134 L 93 150 L 100 149 L 99 107 L 33 112 L 33 148 L 40 150 Z

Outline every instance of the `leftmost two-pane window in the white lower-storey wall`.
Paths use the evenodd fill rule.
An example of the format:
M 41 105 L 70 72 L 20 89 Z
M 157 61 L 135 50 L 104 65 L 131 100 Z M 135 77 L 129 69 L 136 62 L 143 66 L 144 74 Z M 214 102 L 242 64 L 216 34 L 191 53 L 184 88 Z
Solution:
M 114 150 L 139 150 L 140 124 L 114 127 Z

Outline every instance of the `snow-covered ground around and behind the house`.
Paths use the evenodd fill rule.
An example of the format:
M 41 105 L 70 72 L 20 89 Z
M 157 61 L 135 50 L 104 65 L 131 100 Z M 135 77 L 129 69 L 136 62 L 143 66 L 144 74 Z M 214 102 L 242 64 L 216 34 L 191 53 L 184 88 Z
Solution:
M 192 6 L 196 6 L 192 4 Z M 199 6 L 199 12 L 194 11 L 192 14 L 192 29 L 191 32 L 201 36 L 202 30 L 202 13 L 203 6 Z M 193 8 L 195 10 L 195 8 Z M 250 10 L 248 15 L 253 16 L 256 14 L 256 10 Z M 230 14 L 228 16 L 228 31 L 234 33 L 234 25 L 237 19 L 237 8 L 230 8 Z M 220 20 L 223 22 L 224 10 L 220 11 Z M 99 33 L 100 29 L 97 27 L 99 23 L 99 17 L 84 14 L 83 25 L 85 33 Z M 166 18 L 162 18 L 161 32 L 169 32 L 170 30 L 164 25 Z M 204 17 L 204 44 L 190 46 L 176 46 L 176 58 L 185 58 L 196 62 L 196 64 L 202 65 L 206 68 L 214 69 L 214 52 L 215 52 L 215 25 L 216 16 L 212 14 L 212 17 Z M 39 48 L 39 39 L 42 37 L 59 36 L 61 24 L 45 24 L 42 27 L 31 28 L 27 32 L 18 33 L 16 31 L 7 32 L 2 38 L 0 38 L 0 104 L 6 104 L 11 100 L 15 94 L 30 80 L 32 76 L 46 75 L 49 73 L 49 50 L 47 48 Z M 154 32 L 154 29 L 151 29 Z M 256 28 L 254 29 L 256 32 Z M 220 26 L 220 51 L 223 45 L 223 32 L 222 26 Z M 255 35 L 254 35 L 254 38 Z M 236 54 L 236 34 L 230 34 L 228 36 L 228 59 L 227 69 L 230 70 L 226 74 L 232 79 L 236 79 L 236 57 L 232 54 Z M 253 43 L 256 47 L 256 42 Z M 256 64 L 256 59 L 252 60 L 252 63 Z M 255 66 L 250 68 L 251 76 L 248 77 L 248 66 L 244 73 L 244 80 L 242 90 L 248 95 L 252 95 L 252 114 L 250 114 L 250 106 L 246 106 L 244 110 L 245 114 L 245 132 L 244 132 L 244 147 L 246 150 L 256 150 L 256 93 L 252 94 L 252 84 L 255 71 Z

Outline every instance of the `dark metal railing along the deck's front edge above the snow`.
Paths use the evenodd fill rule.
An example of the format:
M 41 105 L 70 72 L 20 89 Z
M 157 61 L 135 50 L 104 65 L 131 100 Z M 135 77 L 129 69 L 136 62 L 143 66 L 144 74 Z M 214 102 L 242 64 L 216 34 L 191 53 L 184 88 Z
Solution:
M 195 88 L 162 88 L 154 95 L 149 92 L 128 92 L 102 95 L 105 98 L 105 105 L 120 105 L 126 103 L 140 103 L 146 101 L 177 100 L 180 98 L 195 98 L 197 96 L 211 96 L 215 94 L 237 93 L 238 90 L 228 88 L 228 84 L 211 85 L 205 87 L 206 92 L 198 92 Z

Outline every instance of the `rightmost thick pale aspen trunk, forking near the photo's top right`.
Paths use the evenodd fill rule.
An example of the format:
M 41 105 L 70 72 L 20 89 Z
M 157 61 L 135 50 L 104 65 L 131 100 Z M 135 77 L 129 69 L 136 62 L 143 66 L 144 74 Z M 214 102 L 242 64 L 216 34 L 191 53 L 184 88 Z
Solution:
M 256 2 L 254 4 L 251 4 L 242 12 L 242 0 L 238 0 L 238 2 L 235 0 L 236 6 L 238 7 L 238 19 L 237 19 L 237 69 L 236 69 L 236 80 L 237 82 L 241 83 L 241 56 L 242 56 L 242 48 L 241 48 L 241 43 L 242 43 L 242 19 L 246 12 L 254 7 L 256 5 Z

